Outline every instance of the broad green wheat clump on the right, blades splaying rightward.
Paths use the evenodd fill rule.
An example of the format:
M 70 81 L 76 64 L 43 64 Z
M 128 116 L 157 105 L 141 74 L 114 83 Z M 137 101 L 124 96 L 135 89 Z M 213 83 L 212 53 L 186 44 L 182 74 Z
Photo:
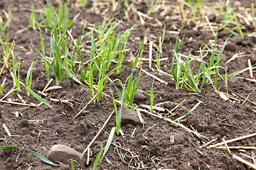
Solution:
M 193 91 L 198 94 L 201 94 L 202 89 L 203 89 L 203 84 L 208 83 L 208 81 L 210 81 L 210 84 L 213 85 L 213 89 L 215 89 L 215 91 L 217 91 L 218 81 L 220 79 L 223 79 L 225 81 L 225 85 L 226 85 L 226 89 L 227 89 L 227 93 L 228 93 L 228 77 L 238 75 L 242 72 L 245 72 L 245 70 L 248 69 L 248 68 L 242 69 L 238 72 L 234 72 L 233 74 L 229 74 L 229 75 L 225 71 L 225 77 L 221 77 L 220 69 L 224 69 L 224 68 L 220 66 L 220 61 L 222 60 L 222 55 L 223 55 L 223 52 L 225 49 L 225 45 L 227 44 L 229 38 L 227 40 L 225 40 L 225 42 L 223 43 L 223 46 L 221 47 L 220 52 L 218 54 L 215 52 L 215 47 L 216 47 L 217 41 L 218 41 L 218 31 L 216 32 L 213 50 L 210 50 L 210 48 L 207 45 L 205 45 L 208 48 L 208 50 L 210 50 L 212 52 L 212 54 L 210 55 L 209 67 L 206 67 L 206 64 L 204 64 L 204 62 L 203 62 L 203 52 L 200 47 L 201 66 L 200 66 L 200 69 L 198 70 L 198 74 L 196 74 L 196 75 L 193 74 L 193 72 L 192 72 L 193 68 L 189 67 L 189 64 L 188 64 L 189 57 L 191 57 L 192 55 L 188 55 L 187 60 L 185 60 L 185 59 L 182 60 L 181 54 L 177 53 L 178 47 L 181 44 L 178 45 L 177 40 L 176 40 L 176 48 L 174 50 L 174 60 L 176 60 L 176 62 L 174 64 L 174 60 L 173 60 L 173 62 L 171 64 L 171 71 L 172 71 L 172 74 L 174 77 L 174 81 L 176 81 L 176 89 L 179 86 L 179 84 L 182 82 L 181 86 L 186 88 L 188 91 Z M 178 39 L 178 37 L 177 37 L 177 39 Z M 181 42 L 182 42 L 182 40 L 181 40 Z M 214 62 L 215 57 L 217 57 L 216 62 Z M 215 74 L 214 79 L 211 78 L 211 76 L 213 74 Z M 198 84 L 200 84 L 200 83 L 201 83 L 201 88 L 198 88 Z

